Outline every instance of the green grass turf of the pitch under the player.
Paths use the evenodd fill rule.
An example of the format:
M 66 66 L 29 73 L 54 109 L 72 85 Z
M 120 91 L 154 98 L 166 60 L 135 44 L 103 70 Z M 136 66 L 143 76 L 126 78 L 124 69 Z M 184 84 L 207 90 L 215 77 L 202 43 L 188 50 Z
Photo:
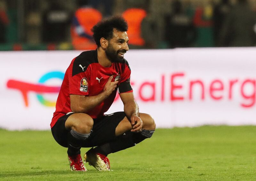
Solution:
M 110 154 L 109 172 L 71 172 L 50 131 L 0 130 L 0 138 L 0 180 L 256 180 L 255 126 L 157 129 Z

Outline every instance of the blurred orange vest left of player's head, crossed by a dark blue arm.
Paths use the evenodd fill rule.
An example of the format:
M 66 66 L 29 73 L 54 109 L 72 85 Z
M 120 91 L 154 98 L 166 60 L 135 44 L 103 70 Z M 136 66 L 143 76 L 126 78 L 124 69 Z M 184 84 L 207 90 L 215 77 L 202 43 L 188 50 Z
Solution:
M 75 13 L 75 18 L 77 19 L 79 25 L 83 28 L 84 33 L 92 36 L 92 27 L 96 25 L 102 18 L 100 11 L 91 7 L 79 8 Z M 94 40 L 92 38 L 87 38 L 79 35 L 76 32 L 76 26 L 71 27 L 71 38 L 72 45 L 76 50 L 93 50 L 97 48 Z

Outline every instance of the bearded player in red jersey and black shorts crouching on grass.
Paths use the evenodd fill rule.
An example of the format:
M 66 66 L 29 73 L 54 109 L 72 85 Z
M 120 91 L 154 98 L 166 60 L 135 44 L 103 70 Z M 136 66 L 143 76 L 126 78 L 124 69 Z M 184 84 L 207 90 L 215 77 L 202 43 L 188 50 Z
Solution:
M 127 29 L 120 16 L 100 21 L 92 28 L 97 49 L 78 55 L 65 73 L 51 128 L 54 139 L 68 148 L 71 170 L 86 171 L 81 147 L 92 147 L 84 162 L 99 171 L 110 170 L 108 154 L 130 148 L 155 131 L 154 119 L 139 112 L 133 97 L 131 69 L 124 59 Z M 124 112 L 104 114 L 117 91 Z

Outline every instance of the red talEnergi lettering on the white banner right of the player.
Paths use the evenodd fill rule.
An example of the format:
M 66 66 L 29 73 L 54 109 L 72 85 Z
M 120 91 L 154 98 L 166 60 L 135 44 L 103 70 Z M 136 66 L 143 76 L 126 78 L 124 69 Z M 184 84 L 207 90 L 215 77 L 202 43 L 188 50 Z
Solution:
M 164 102 L 166 99 L 171 101 L 184 101 L 186 98 L 193 100 L 196 94 L 196 90 L 199 89 L 200 100 L 205 100 L 206 96 L 209 96 L 213 101 L 215 100 L 233 100 L 234 91 L 240 89 L 240 94 L 236 94 L 236 100 L 239 97 L 244 99 L 244 102 L 239 103 L 244 108 L 249 108 L 255 105 L 256 102 L 256 80 L 255 79 L 230 79 L 225 80 L 213 79 L 209 82 L 209 87 L 206 87 L 204 80 L 196 79 L 188 82 L 184 82 L 185 73 L 178 72 L 170 75 L 170 85 L 165 81 L 165 75 L 160 74 L 159 80 L 148 82 L 142 81 L 140 84 L 131 82 L 132 87 L 136 86 L 134 96 L 135 99 L 143 102 L 148 101 L 161 101 Z M 182 80 L 183 79 L 183 80 Z M 179 82 L 178 82 L 179 81 Z M 156 85 L 159 85 L 156 87 Z M 236 86 L 235 86 L 236 85 Z M 165 89 L 170 86 L 170 98 L 165 96 Z M 188 87 L 184 90 L 184 87 Z M 197 89 L 196 89 L 197 88 Z M 235 89 L 236 88 L 236 89 Z M 209 90 L 209 95 L 208 91 Z M 188 97 L 182 95 L 182 93 L 188 94 Z M 201 91 L 201 92 L 200 92 Z M 225 92 L 224 92 L 225 91 Z M 206 94 L 207 93 L 207 94 Z M 224 94 L 225 93 L 225 94 Z M 237 92 L 236 92 L 237 93 Z M 157 96 L 159 95 L 159 96 Z M 227 97 L 225 97 L 227 95 Z M 119 94 L 116 95 L 115 102 L 120 99 Z

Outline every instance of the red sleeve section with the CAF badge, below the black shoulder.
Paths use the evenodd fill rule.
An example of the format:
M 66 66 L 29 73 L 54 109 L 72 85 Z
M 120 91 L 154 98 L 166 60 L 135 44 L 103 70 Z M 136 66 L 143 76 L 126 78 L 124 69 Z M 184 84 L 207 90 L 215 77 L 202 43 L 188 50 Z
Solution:
M 71 71 L 72 72 L 72 71 Z M 90 71 L 87 69 L 85 72 L 78 74 L 69 74 L 69 94 L 75 95 L 88 95 L 89 94 L 89 82 Z

